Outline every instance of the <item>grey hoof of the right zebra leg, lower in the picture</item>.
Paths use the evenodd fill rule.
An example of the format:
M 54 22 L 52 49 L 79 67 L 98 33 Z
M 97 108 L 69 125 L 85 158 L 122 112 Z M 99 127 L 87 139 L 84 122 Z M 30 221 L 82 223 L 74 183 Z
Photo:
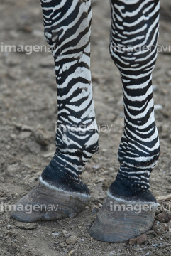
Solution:
M 118 201 L 108 194 L 89 234 L 104 242 L 125 242 L 136 238 L 153 226 L 155 206 L 153 202 Z

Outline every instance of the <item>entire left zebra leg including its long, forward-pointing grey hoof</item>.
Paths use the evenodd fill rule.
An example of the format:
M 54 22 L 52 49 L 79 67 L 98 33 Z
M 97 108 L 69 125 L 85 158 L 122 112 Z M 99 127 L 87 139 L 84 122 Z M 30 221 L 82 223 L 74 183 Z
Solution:
M 99 149 L 90 73 L 91 1 L 41 0 L 41 5 L 55 59 L 58 116 L 55 155 L 35 188 L 16 203 L 37 210 L 13 211 L 14 218 L 29 222 L 74 217 L 82 210 L 89 189 L 79 177 Z

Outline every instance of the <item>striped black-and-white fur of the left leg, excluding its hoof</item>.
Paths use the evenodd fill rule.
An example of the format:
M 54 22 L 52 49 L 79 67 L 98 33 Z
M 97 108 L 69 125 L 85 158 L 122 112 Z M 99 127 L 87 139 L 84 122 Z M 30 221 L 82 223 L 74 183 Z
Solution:
M 63 183 L 79 182 L 84 164 L 99 149 L 90 73 L 92 10 L 90 1 L 41 4 L 45 38 L 55 58 L 58 109 L 56 152 L 41 178 L 58 186 L 59 176 Z

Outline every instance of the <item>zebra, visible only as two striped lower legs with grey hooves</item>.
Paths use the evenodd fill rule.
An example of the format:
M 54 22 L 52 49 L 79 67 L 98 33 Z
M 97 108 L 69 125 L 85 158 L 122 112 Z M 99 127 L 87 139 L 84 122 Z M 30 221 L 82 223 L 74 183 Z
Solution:
M 160 154 L 152 85 L 160 2 L 111 0 L 110 4 L 109 51 L 121 74 L 124 129 L 118 174 L 89 233 L 97 240 L 123 242 L 145 233 L 155 216 L 149 178 Z M 41 7 L 45 40 L 55 60 L 56 150 L 33 190 L 16 203 L 12 216 L 23 222 L 75 217 L 90 198 L 80 176 L 99 151 L 90 70 L 91 1 L 41 0 Z M 47 210 L 50 204 L 57 210 Z M 18 210 L 28 205 L 33 206 L 31 214 L 26 208 Z

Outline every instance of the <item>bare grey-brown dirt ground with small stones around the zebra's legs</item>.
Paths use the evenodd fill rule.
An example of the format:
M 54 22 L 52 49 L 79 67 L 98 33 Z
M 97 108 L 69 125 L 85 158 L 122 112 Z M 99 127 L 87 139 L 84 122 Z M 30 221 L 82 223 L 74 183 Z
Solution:
M 106 191 L 116 177 L 117 149 L 123 133 L 121 80 L 109 55 L 109 1 L 94 1 L 92 9 L 92 83 L 100 153 L 89 161 L 82 174 L 92 198 L 76 218 L 58 221 L 19 223 L 11 218 L 10 211 L 1 210 L 1 256 L 171 255 L 170 223 L 166 225 L 163 219 L 158 220 L 158 229 L 146 233 L 143 244 L 111 244 L 89 235 Z M 48 47 L 43 36 L 40 1 L 1 0 L 0 17 L 0 203 L 9 205 L 35 186 L 53 156 L 57 104 L 51 53 L 45 52 L 45 48 L 32 54 L 3 50 L 4 45 Z M 171 193 L 170 22 L 171 3 L 162 0 L 159 38 L 162 50 L 158 50 L 153 72 L 155 119 L 161 147 L 160 160 L 150 177 L 150 189 L 155 196 Z M 103 129 L 104 124 L 110 131 Z M 40 133 L 48 139 L 41 139 Z M 41 145 L 43 142 L 47 145 Z

